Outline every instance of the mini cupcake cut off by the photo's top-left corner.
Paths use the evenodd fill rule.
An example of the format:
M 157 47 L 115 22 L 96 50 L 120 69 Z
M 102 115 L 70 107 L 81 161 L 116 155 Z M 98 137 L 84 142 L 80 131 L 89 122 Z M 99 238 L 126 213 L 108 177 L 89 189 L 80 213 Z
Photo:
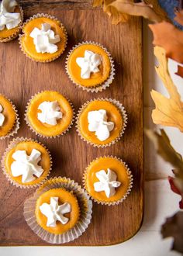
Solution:
M 14 0 L 2 0 L 0 4 L 0 42 L 15 39 L 21 30 L 22 8 Z

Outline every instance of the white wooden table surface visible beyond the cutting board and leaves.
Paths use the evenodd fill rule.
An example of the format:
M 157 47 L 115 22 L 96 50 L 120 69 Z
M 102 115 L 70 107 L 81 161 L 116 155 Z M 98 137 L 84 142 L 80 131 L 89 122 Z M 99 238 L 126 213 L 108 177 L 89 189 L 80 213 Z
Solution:
M 154 102 L 150 99 L 150 90 L 157 89 L 167 95 L 161 81 L 154 71 L 154 54 L 151 44 L 152 35 L 147 29 L 147 22 L 143 22 L 143 87 L 144 87 L 144 126 L 154 128 L 151 120 L 151 111 L 154 109 Z M 170 62 L 171 68 L 174 63 Z M 174 76 L 176 85 L 180 84 L 180 78 Z M 181 81 L 182 85 L 182 81 Z M 178 85 L 183 96 L 183 86 Z M 183 134 L 178 129 L 167 127 L 171 143 L 178 152 L 183 154 Z M 125 256 L 175 256 L 180 255 L 170 251 L 172 239 L 162 240 L 160 230 L 167 216 L 171 216 L 178 210 L 180 197 L 173 192 L 167 182 L 167 176 L 171 175 L 171 165 L 164 164 L 161 157 L 154 152 L 154 147 L 145 137 L 144 148 L 144 171 L 145 171 L 145 209 L 143 226 L 140 231 L 123 244 L 110 247 L 0 247 L 1 256 L 109 256 L 112 254 L 123 254 Z

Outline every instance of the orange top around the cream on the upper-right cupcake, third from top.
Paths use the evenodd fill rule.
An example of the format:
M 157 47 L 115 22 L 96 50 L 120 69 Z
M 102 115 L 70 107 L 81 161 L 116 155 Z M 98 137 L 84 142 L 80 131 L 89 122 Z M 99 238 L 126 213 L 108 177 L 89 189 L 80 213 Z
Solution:
M 81 66 L 78 64 L 78 58 L 82 58 L 83 61 L 86 61 L 86 51 L 90 51 L 92 54 L 98 54 L 98 57 L 101 58 L 101 61 L 97 62 L 99 64 L 96 64 L 95 66 L 96 72 L 91 71 L 89 78 L 82 78 Z M 94 58 L 95 57 L 93 57 L 93 60 Z M 91 64 L 93 65 L 93 61 Z M 85 87 L 96 87 L 101 85 L 107 78 L 109 78 L 111 71 L 109 55 L 104 49 L 102 49 L 102 47 L 99 47 L 98 45 L 92 43 L 79 45 L 71 52 L 70 56 L 68 57 L 67 70 L 74 83 Z M 94 68 L 92 70 L 94 70 Z

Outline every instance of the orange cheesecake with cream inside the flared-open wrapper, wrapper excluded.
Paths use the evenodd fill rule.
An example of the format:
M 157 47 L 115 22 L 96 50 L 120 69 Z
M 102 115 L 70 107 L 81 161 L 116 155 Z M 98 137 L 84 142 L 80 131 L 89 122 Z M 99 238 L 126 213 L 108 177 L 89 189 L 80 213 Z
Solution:
M 50 189 L 37 199 L 35 214 L 37 223 L 44 230 L 63 234 L 78 223 L 78 199 L 65 189 Z

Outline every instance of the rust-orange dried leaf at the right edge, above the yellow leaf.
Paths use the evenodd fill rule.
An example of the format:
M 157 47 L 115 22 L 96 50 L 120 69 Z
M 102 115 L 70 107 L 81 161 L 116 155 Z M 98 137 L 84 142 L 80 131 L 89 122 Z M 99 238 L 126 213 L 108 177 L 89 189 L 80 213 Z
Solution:
M 183 63 L 183 31 L 169 22 L 149 25 L 154 33 L 154 45 L 163 47 L 167 57 Z

